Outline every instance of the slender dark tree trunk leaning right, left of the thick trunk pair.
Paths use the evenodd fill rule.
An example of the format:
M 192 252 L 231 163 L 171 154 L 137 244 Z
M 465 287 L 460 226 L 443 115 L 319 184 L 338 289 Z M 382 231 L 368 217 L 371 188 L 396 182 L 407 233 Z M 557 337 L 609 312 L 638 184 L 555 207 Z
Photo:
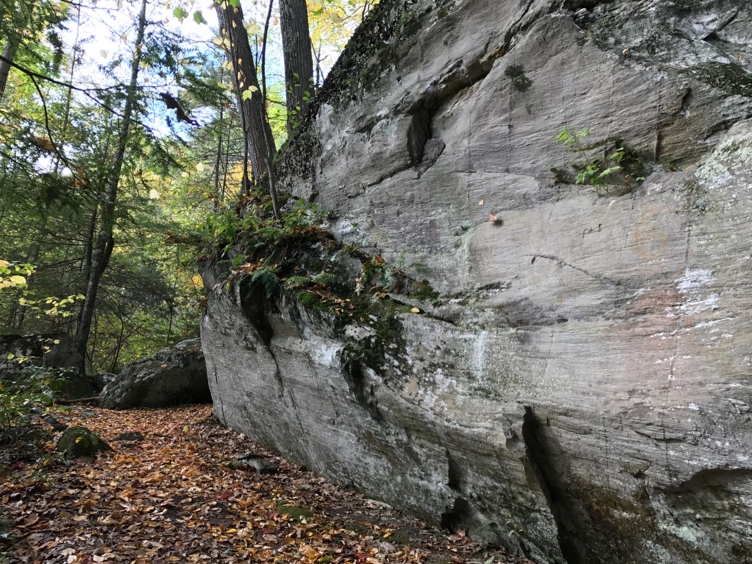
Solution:
M 120 171 L 123 168 L 123 159 L 126 155 L 128 134 L 131 127 L 131 114 L 136 99 L 136 86 L 138 84 L 138 67 L 141 65 L 141 45 L 144 43 L 144 30 L 146 29 L 146 3 L 141 0 L 141 11 L 138 13 L 138 37 L 135 42 L 135 51 L 131 61 L 131 80 L 128 85 L 126 107 L 123 109 L 123 117 L 118 132 L 117 148 L 112 161 L 112 168 L 107 182 L 105 202 L 102 202 L 102 220 L 99 224 L 96 246 L 92 251 L 92 265 L 89 274 L 89 284 L 86 287 L 86 296 L 81 306 L 81 316 L 78 320 L 76 331 L 76 347 L 82 356 L 86 357 L 86 344 L 89 341 L 92 318 L 96 305 L 96 295 L 99 290 L 99 280 L 105 272 L 114 247 L 113 230 L 115 226 L 115 203 L 117 202 L 117 185 L 120 183 Z

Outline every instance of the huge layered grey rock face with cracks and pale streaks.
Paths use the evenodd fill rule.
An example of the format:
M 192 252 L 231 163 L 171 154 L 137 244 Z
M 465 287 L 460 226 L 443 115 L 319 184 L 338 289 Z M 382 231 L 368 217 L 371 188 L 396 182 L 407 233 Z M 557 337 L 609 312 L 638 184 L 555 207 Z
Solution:
M 382 0 L 279 171 L 442 297 L 217 287 L 217 416 L 538 562 L 752 562 L 750 62 L 742 0 Z M 555 181 L 567 124 L 647 179 Z

